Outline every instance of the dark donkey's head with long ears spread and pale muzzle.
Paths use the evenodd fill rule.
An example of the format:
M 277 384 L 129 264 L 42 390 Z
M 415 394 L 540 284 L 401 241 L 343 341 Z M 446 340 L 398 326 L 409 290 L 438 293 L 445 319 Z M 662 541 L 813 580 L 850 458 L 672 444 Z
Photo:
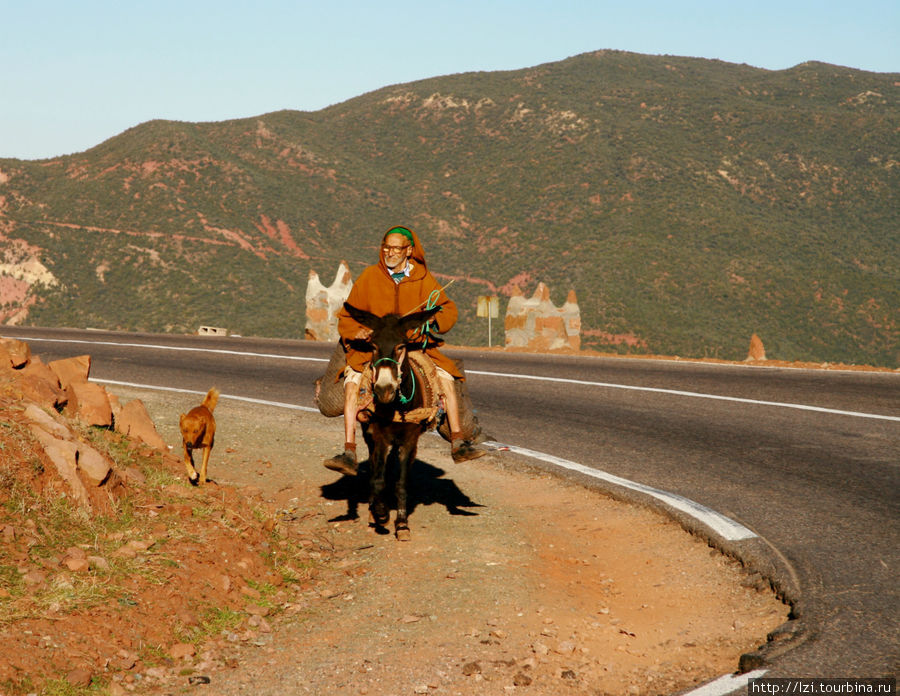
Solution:
M 440 307 L 405 316 L 388 314 L 383 317 L 357 309 L 346 302 L 344 308 L 356 321 L 372 329 L 372 336 L 369 338 L 373 351 L 372 391 L 376 401 L 389 404 L 400 394 L 400 385 L 407 370 L 407 336 L 437 314 Z

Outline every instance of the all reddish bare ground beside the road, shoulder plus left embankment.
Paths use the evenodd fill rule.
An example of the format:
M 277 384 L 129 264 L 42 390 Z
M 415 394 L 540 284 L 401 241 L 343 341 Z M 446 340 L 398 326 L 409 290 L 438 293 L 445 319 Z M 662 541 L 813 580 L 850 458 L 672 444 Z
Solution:
M 42 517 L 3 508 L 0 583 L 30 580 L 0 584 L 0 694 L 670 694 L 735 671 L 786 620 L 659 513 L 503 453 L 454 464 L 424 436 L 398 542 L 321 465 L 339 419 L 223 397 L 213 482 L 192 488 L 177 423 L 202 397 L 109 391 L 147 406 L 173 448 L 154 455 L 164 476 L 127 477 L 128 519 L 49 557 Z M 33 456 L 10 432 L 5 470 Z M 56 490 L 46 471 L 33 485 Z

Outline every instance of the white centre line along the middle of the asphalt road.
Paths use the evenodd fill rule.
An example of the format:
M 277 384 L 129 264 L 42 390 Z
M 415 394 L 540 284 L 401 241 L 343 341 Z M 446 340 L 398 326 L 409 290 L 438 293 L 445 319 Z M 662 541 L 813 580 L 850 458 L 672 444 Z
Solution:
M 206 352 L 218 353 L 221 355 L 240 355 L 258 358 L 273 358 L 277 360 L 297 360 L 304 362 L 328 362 L 326 358 L 306 358 L 296 355 L 279 355 L 277 353 L 253 353 L 250 351 L 225 350 L 221 348 L 191 348 L 185 346 L 163 346 L 151 343 L 123 343 L 116 341 L 88 341 L 84 339 L 54 339 L 54 338 L 28 338 L 29 341 L 47 341 L 51 343 L 86 343 L 93 345 L 107 346 L 125 346 L 129 348 L 155 348 L 158 350 L 188 351 L 188 352 Z M 506 377 L 508 379 L 529 379 L 542 382 L 558 382 L 561 384 L 580 384 L 591 387 L 603 387 L 606 389 L 624 389 L 630 391 L 651 392 L 655 394 L 669 394 L 672 396 L 685 396 L 695 399 L 713 399 L 717 401 L 731 401 L 739 404 L 753 404 L 756 406 L 774 406 L 778 408 L 792 408 L 801 411 L 814 411 L 816 413 L 830 413 L 838 416 L 852 416 L 854 418 L 872 418 L 876 420 L 887 420 L 900 423 L 900 416 L 885 416 L 878 413 L 863 413 L 860 411 L 843 411 L 835 408 L 825 408 L 823 406 L 810 406 L 807 404 L 793 404 L 781 401 L 760 401 L 757 399 L 744 399 L 737 396 L 720 396 L 717 394 L 704 394 L 702 392 L 681 391 L 678 389 L 661 389 L 659 387 L 637 387 L 629 384 L 614 384 L 612 382 L 592 382 L 589 380 L 566 379 L 564 377 L 542 377 L 540 375 L 520 375 L 511 372 L 485 372 L 481 370 L 466 370 L 470 375 L 485 375 L 488 377 Z

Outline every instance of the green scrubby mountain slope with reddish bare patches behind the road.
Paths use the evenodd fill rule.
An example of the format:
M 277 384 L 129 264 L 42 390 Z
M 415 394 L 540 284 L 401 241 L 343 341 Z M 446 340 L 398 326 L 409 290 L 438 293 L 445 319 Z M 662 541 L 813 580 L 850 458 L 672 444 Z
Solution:
M 900 75 L 597 52 L 316 113 L 149 122 L 0 160 L 0 234 L 60 285 L 27 321 L 300 337 L 309 271 L 419 232 L 476 298 L 574 289 L 582 346 L 900 364 Z M 494 323 L 493 342 L 503 342 Z

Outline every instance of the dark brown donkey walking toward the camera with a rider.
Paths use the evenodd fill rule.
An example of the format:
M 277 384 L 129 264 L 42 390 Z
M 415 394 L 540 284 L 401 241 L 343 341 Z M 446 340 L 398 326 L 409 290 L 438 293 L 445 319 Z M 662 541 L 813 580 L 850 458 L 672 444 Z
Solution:
M 390 510 L 385 505 L 383 494 L 388 468 L 396 463 L 397 517 L 394 533 L 397 539 L 407 541 L 410 536 L 406 500 L 409 467 L 416 459 L 419 437 L 428 424 L 416 420 L 397 420 L 395 415 L 425 405 L 425 390 L 417 387 L 409 364 L 409 351 L 415 350 L 416 345 L 408 343 L 407 337 L 413 329 L 431 319 L 440 307 L 405 316 L 388 314 L 383 317 L 347 303 L 344 307 L 356 321 L 372 330 L 367 348 L 372 350 L 373 412 L 367 421 L 362 422 L 371 465 L 370 522 L 383 528 L 390 519 Z

